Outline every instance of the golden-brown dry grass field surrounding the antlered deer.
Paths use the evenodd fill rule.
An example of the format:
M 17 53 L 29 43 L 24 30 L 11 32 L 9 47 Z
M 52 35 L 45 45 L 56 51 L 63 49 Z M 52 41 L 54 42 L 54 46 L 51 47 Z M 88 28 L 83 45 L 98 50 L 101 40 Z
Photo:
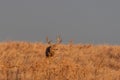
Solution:
M 120 80 L 120 46 L 0 42 L 0 80 Z

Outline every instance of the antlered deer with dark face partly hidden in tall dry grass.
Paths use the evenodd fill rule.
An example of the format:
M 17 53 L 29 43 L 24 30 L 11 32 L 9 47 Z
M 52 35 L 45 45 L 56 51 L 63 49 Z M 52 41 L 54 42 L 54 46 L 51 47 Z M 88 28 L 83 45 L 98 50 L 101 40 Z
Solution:
M 55 55 L 55 52 L 58 50 L 57 45 L 62 42 L 62 39 L 60 35 L 57 36 L 56 43 L 52 43 L 52 40 L 49 40 L 48 37 L 46 37 L 46 41 L 49 44 L 49 46 L 46 48 L 46 57 L 52 57 Z

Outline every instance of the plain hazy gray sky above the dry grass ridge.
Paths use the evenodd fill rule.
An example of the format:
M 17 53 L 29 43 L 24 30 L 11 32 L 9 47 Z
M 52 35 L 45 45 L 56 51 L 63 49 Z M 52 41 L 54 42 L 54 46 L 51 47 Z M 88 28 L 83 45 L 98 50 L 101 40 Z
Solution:
M 0 0 L 0 41 L 120 44 L 120 0 Z

